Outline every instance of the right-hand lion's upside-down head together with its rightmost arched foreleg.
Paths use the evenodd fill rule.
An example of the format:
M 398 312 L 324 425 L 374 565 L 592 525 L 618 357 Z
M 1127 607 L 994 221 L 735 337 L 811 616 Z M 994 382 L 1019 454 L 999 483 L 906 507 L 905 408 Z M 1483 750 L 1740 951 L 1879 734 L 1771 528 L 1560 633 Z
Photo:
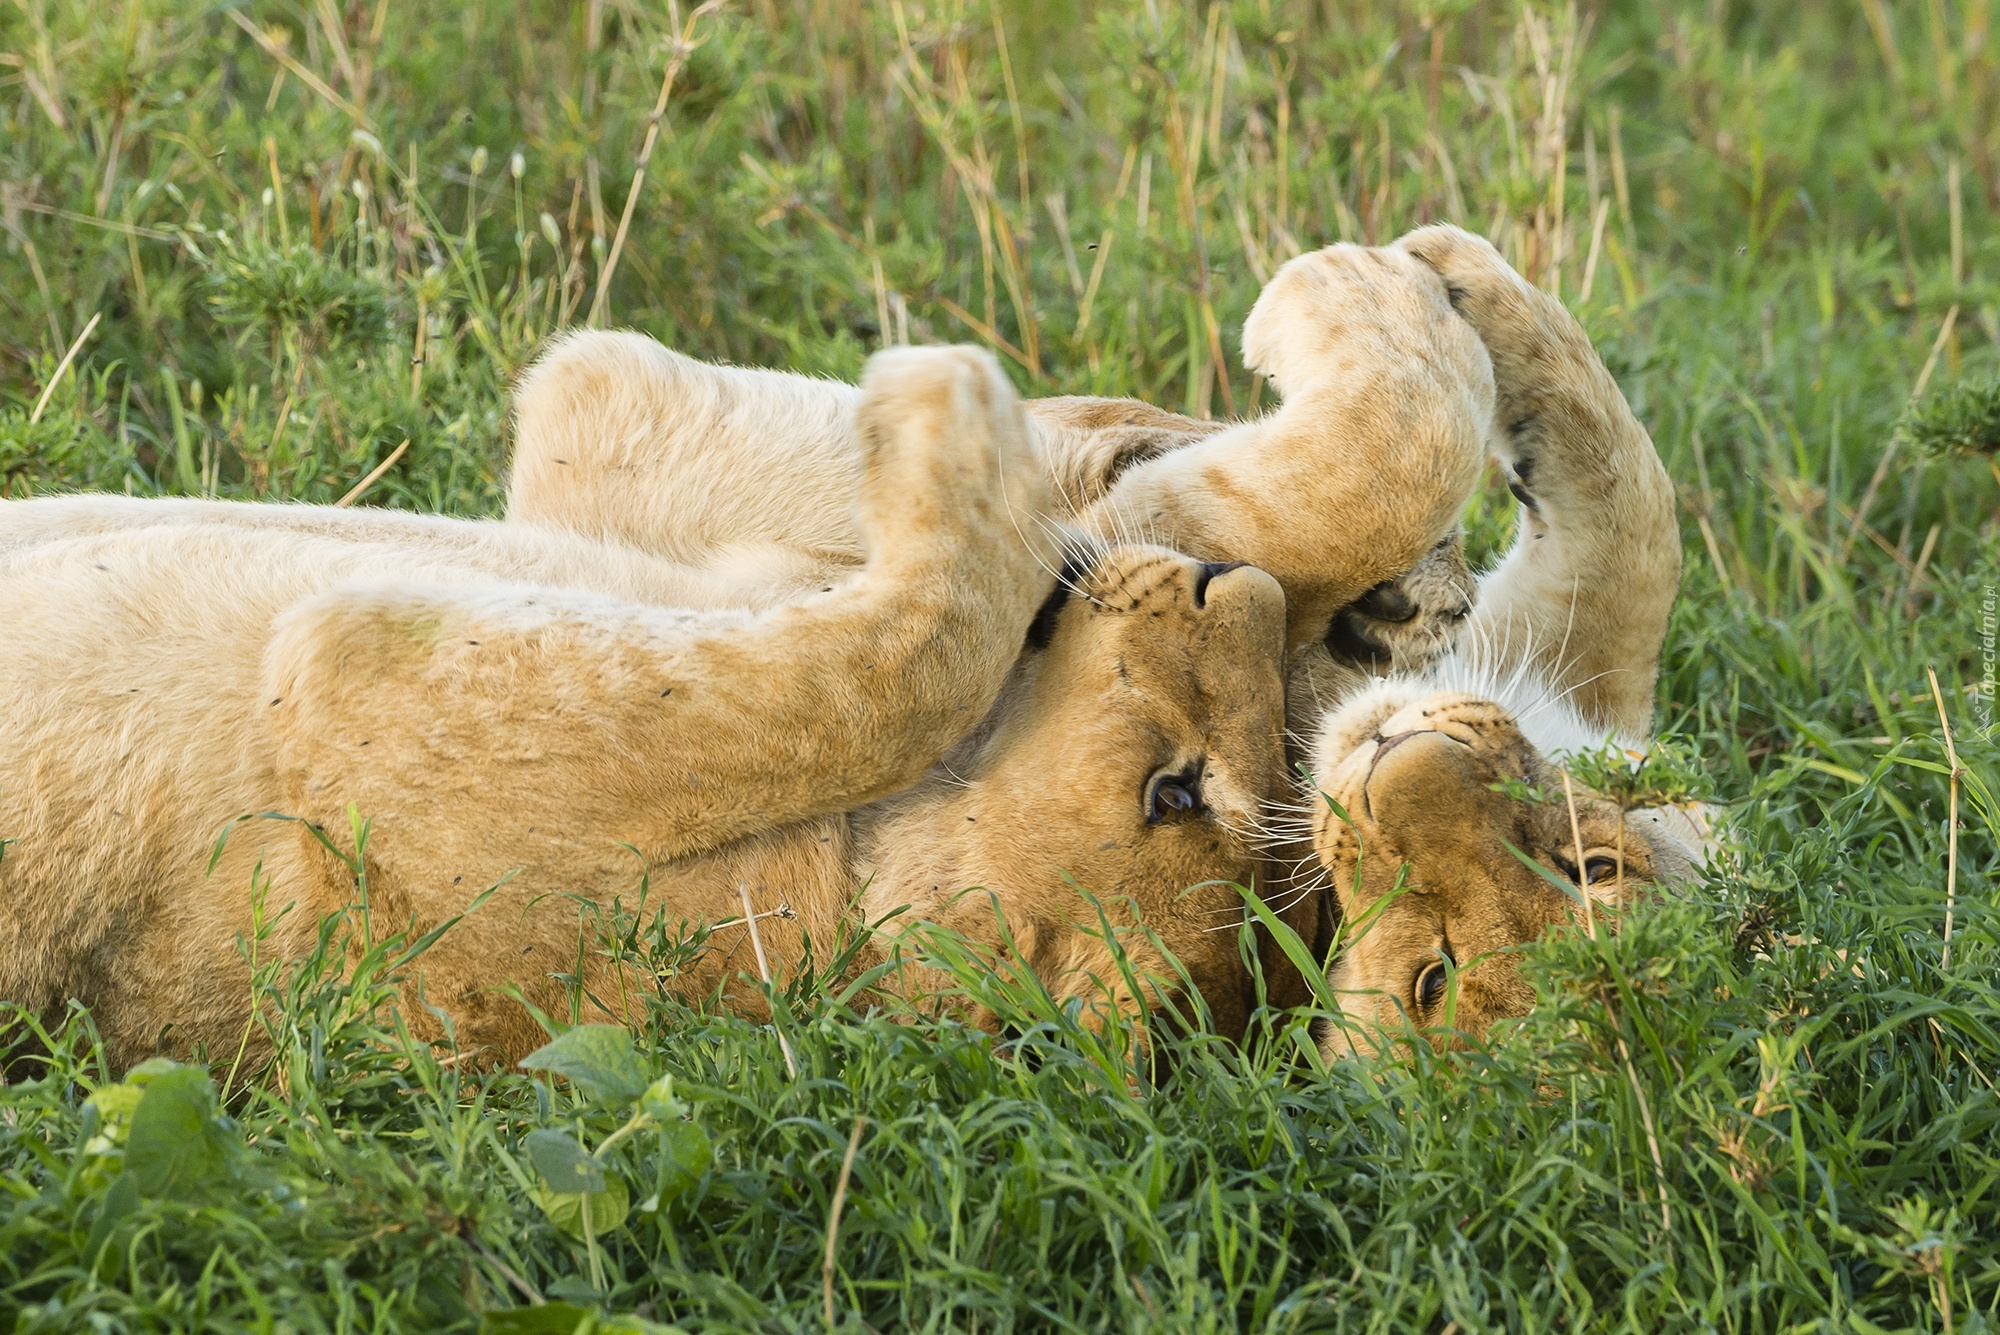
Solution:
M 1312 837 L 1348 935 L 1330 981 L 1354 1021 L 1322 1039 L 1330 1057 L 1406 1025 L 1478 1035 L 1526 1011 L 1514 947 L 1592 917 L 1584 895 L 1608 929 L 1602 909 L 1684 879 L 1706 835 L 1680 811 L 1620 817 L 1590 791 L 1572 827 L 1548 751 L 1638 747 L 1652 727 L 1680 534 L 1646 430 L 1576 320 L 1492 246 L 1456 228 L 1398 246 L 1442 274 L 1492 356 L 1498 452 L 1526 504 L 1454 658 L 1350 695 L 1314 739 Z M 1426 969 L 1446 955 L 1456 987 L 1426 1005 Z

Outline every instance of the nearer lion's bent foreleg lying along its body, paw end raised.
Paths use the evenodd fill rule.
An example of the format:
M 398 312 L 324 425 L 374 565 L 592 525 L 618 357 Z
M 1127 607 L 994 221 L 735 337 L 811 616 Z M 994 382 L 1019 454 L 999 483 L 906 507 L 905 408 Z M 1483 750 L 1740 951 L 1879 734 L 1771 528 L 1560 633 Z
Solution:
M 496 851 L 526 833 L 452 775 L 504 759 L 542 841 L 678 857 L 914 783 L 1000 691 L 1054 544 L 1010 510 L 1044 484 L 992 358 L 882 354 L 856 422 L 868 564 L 772 612 L 394 584 L 292 608 L 266 656 L 292 797 Z

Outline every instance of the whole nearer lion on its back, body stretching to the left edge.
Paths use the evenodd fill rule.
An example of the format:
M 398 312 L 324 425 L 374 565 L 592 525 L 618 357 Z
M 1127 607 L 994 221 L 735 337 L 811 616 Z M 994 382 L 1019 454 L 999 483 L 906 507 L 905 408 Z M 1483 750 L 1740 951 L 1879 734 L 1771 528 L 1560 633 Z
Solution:
M 824 949 L 898 905 L 992 947 L 994 909 L 956 897 L 984 885 L 1052 991 L 1130 1007 L 1082 929 L 1096 911 L 1074 869 L 1240 1023 L 1234 937 L 1198 929 L 1240 905 L 1184 887 L 1254 871 L 1278 586 L 1100 550 L 1048 648 L 1020 654 L 1058 544 L 1020 522 L 1052 504 L 1048 468 L 992 360 L 884 354 L 848 432 L 840 542 L 866 558 L 798 598 L 772 594 L 798 564 L 770 576 L 694 540 L 668 560 L 522 524 L 0 502 L 0 829 L 16 839 L 0 995 L 92 1003 L 118 1059 L 234 1045 L 252 869 L 274 909 L 296 905 L 270 943 L 288 955 L 356 887 L 300 825 L 236 829 L 214 875 L 208 851 L 260 811 L 350 847 L 352 803 L 374 819 L 378 931 L 504 881 L 420 963 L 422 999 L 466 1047 L 538 1041 L 506 983 L 560 1007 L 552 975 L 580 971 L 588 1009 L 628 1013 L 650 979 L 610 969 L 578 919 L 634 907 L 642 863 L 668 921 L 738 917 L 738 885 L 760 909 L 790 903 L 796 919 L 762 923 L 782 971 L 806 933 Z M 1150 779 L 1190 757 L 1208 807 L 1148 821 Z M 736 989 L 744 935 L 724 925 L 674 985 Z

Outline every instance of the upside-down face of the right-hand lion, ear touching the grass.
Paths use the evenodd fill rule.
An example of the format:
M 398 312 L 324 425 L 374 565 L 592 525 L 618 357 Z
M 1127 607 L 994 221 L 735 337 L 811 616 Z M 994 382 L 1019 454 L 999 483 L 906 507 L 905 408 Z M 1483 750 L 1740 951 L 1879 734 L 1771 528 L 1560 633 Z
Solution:
M 1312 841 L 1330 877 L 1326 933 L 1332 917 L 1346 931 L 1328 981 L 1356 1021 L 1322 1037 L 1326 1057 L 1410 1029 L 1438 1031 L 1442 1047 L 1446 1031 L 1480 1035 L 1526 1013 L 1534 989 L 1514 947 L 1582 921 L 1586 903 L 1592 915 L 1614 909 L 1698 865 L 1694 817 L 1620 819 L 1616 803 L 1574 785 L 1572 803 L 1536 741 L 1584 747 L 1602 733 L 1556 701 L 1514 711 L 1412 679 L 1382 681 L 1324 721 Z

